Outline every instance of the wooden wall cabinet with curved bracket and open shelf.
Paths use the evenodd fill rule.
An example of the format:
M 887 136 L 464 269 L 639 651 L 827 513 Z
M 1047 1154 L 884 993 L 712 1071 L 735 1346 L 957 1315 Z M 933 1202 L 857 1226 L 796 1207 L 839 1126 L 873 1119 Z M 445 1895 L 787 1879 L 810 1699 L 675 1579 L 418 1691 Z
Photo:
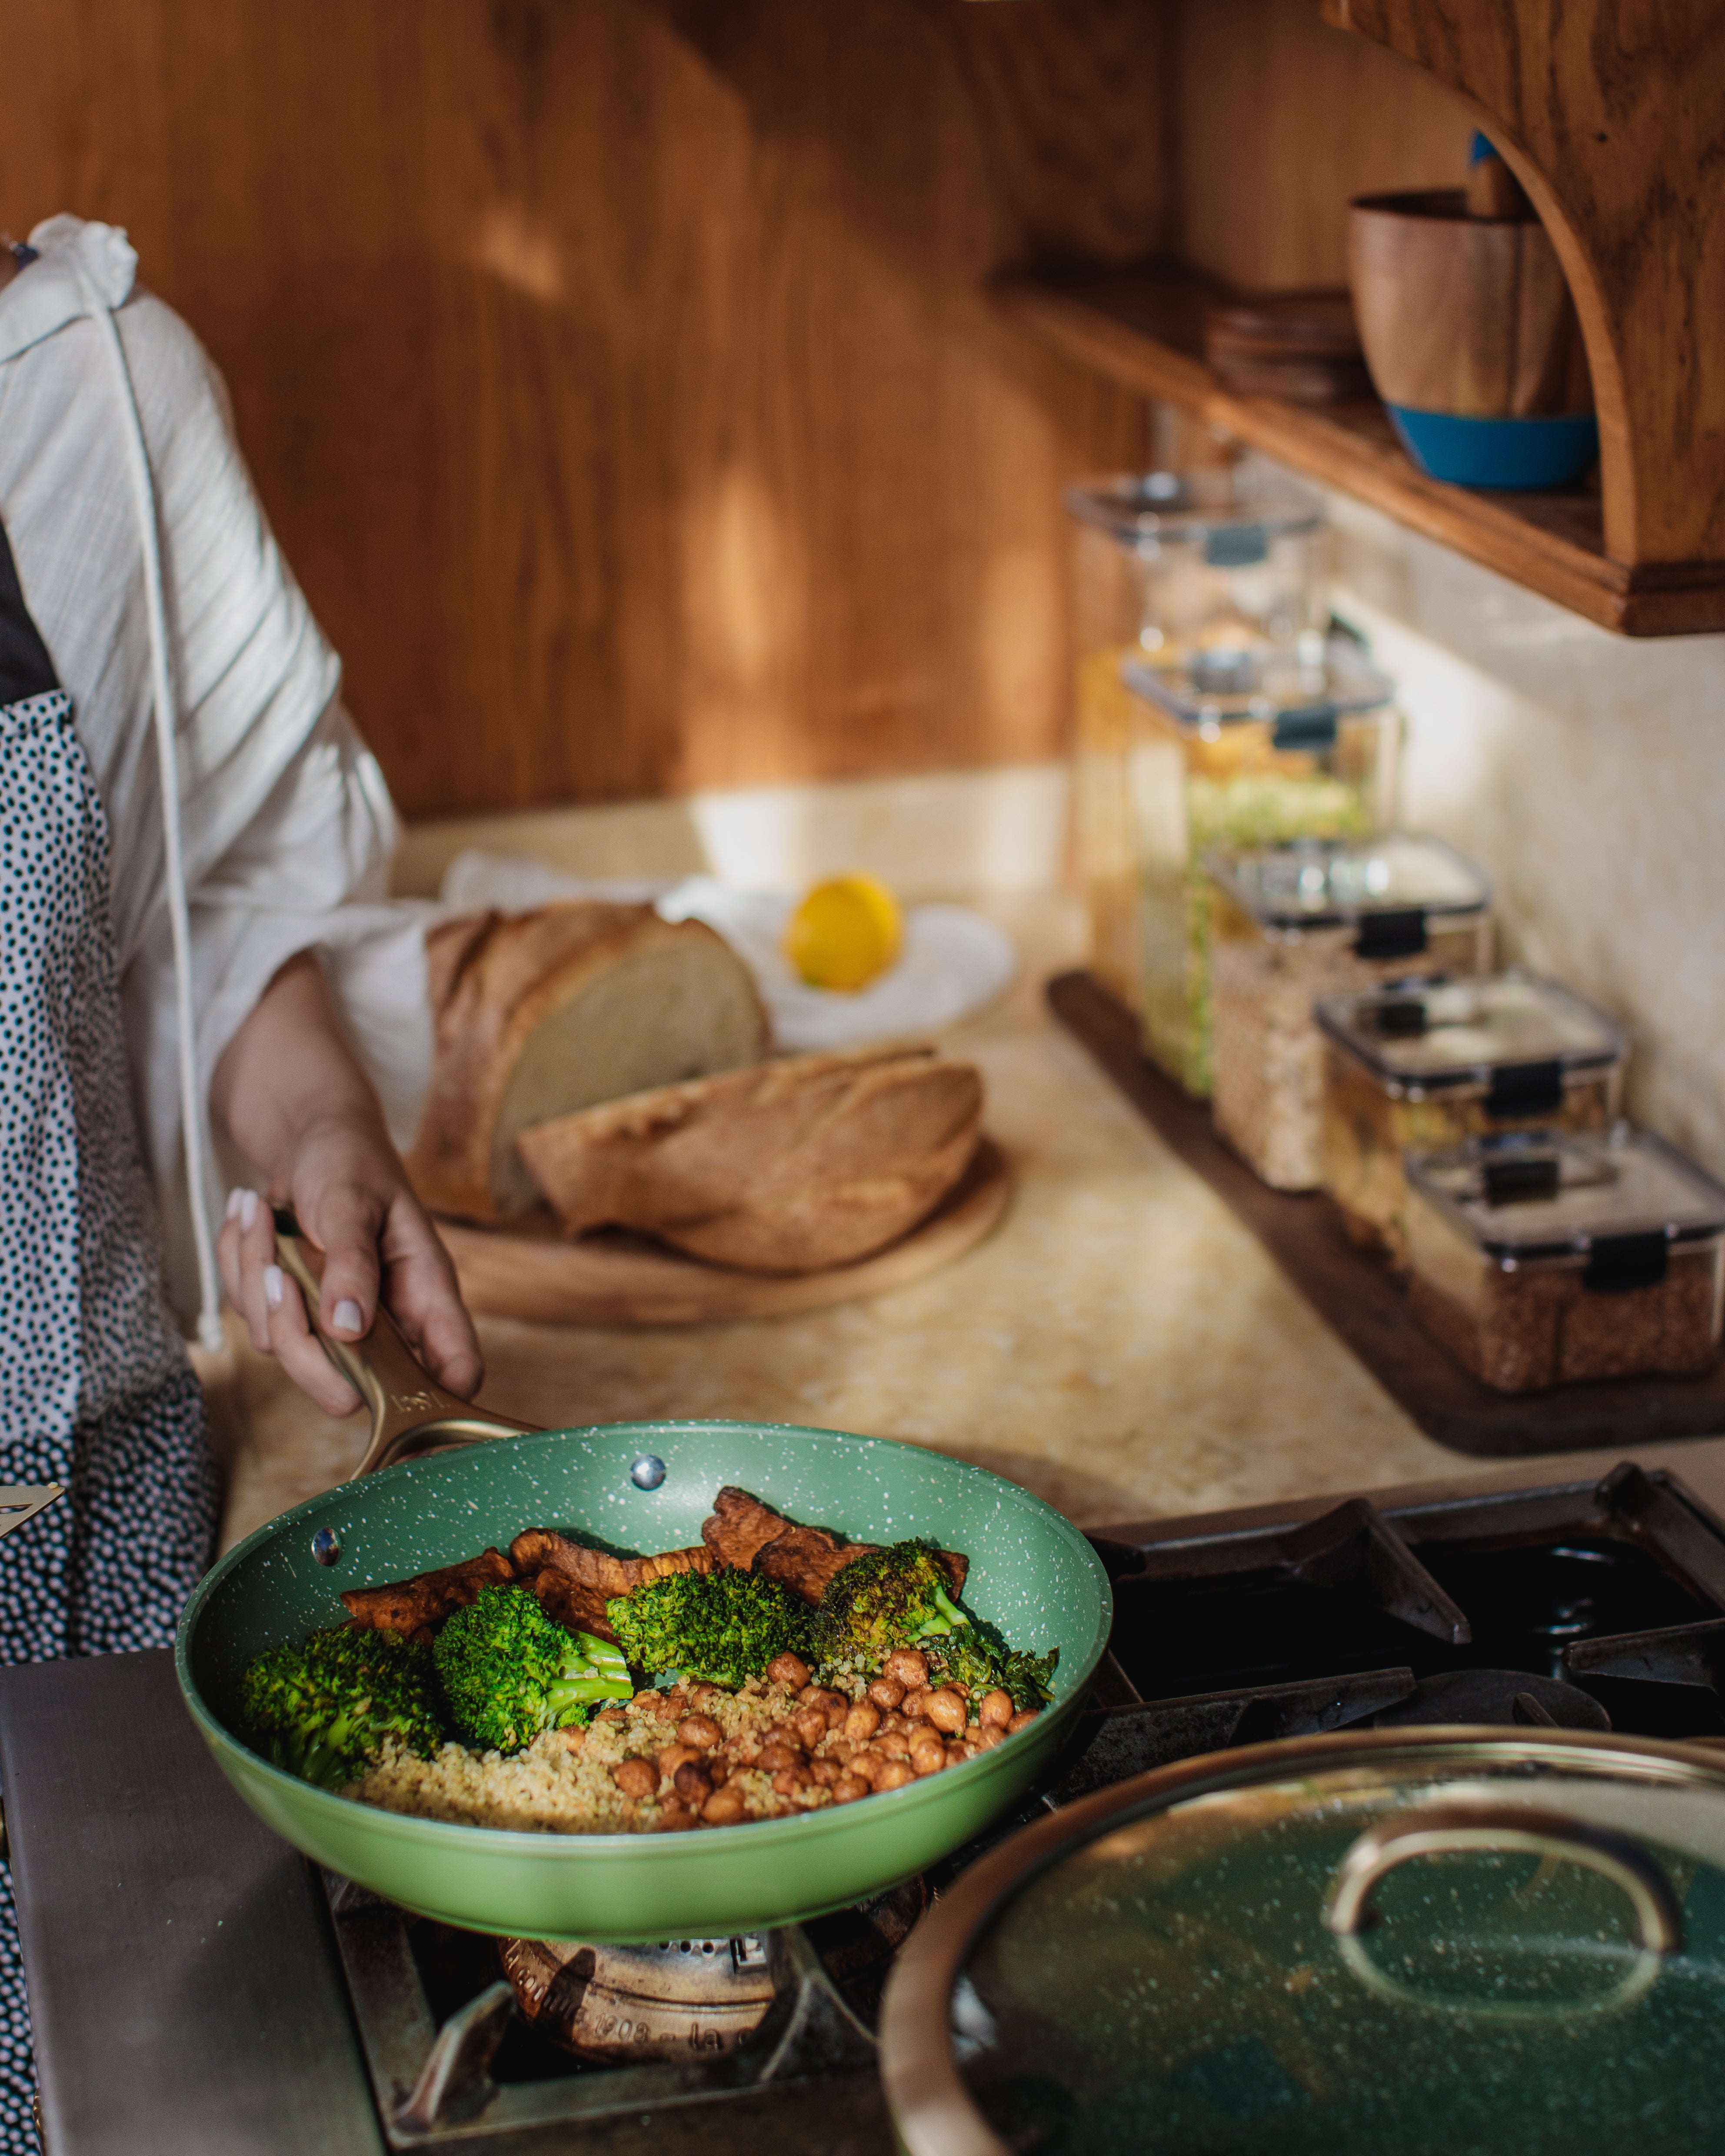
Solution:
M 1175 259 L 1016 276 L 1005 304 L 1110 379 L 1591 621 L 1637 636 L 1725 627 L 1719 0 L 1324 0 L 1322 24 L 1315 0 L 1171 4 Z M 1238 397 L 1201 358 L 1218 285 L 1335 278 L 1348 194 L 1455 183 L 1473 125 L 1570 278 L 1600 414 L 1591 494 L 1443 485 L 1412 468 L 1380 405 Z

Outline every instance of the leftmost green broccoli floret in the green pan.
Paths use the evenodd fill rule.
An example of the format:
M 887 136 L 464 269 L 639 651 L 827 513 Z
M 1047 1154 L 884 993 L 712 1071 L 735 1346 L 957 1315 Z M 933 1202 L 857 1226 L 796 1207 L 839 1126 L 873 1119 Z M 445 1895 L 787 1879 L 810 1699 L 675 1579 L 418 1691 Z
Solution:
M 336 1626 L 267 1647 L 239 1680 L 239 1712 L 274 1766 L 339 1789 L 386 1738 L 429 1759 L 444 1740 L 431 1654 L 399 1632 Z

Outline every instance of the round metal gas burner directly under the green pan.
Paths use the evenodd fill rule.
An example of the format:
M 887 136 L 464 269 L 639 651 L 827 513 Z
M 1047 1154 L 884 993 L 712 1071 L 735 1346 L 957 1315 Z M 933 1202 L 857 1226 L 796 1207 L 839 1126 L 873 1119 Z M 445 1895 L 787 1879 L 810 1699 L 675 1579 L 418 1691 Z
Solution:
M 765 1940 L 671 1938 L 649 1947 L 500 1938 L 522 2016 L 599 2065 L 735 2050 L 774 1999 Z

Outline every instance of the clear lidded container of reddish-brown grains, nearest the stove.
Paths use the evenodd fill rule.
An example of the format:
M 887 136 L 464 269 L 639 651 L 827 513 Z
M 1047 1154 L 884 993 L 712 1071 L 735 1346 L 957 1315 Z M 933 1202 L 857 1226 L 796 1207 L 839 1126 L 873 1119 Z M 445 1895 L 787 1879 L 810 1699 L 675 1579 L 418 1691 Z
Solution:
M 1719 1354 L 1725 1190 L 1650 1132 L 1408 1156 L 1414 1317 L 1501 1393 L 1695 1376 Z

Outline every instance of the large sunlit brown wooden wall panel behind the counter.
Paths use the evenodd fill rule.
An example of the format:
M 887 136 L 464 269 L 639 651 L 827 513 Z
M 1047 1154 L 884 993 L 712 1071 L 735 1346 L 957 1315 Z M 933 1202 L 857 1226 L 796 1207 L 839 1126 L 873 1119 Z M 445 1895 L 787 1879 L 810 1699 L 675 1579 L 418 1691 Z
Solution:
M 983 295 L 1167 239 L 1151 0 L 13 0 L 408 813 L 1039 757 L 1143 410 Z

